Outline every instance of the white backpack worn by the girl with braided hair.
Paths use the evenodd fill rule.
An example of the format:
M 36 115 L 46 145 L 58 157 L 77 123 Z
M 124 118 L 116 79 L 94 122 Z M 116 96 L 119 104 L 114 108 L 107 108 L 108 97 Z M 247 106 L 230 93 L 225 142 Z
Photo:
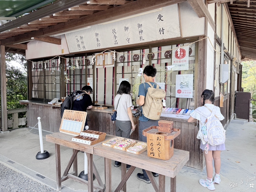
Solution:
M 212 146 L 225 143 L 226 131 L 224 130 L 218 117 L 215 115 L 217 107 L 214 106 L 213 110 L 211 110 L 205 105 L 204 107 L 211 111 L 211 115 L 209 117 L 205 116 L 205 113 L 203 113 L 202 111 L 195 109 L 196 112 L 199 112 L 201 115 L 207 118 L 207 122 L 205 122 L 205 125 L 207 127 L 207 138 L 204 138 L 204 140 Z

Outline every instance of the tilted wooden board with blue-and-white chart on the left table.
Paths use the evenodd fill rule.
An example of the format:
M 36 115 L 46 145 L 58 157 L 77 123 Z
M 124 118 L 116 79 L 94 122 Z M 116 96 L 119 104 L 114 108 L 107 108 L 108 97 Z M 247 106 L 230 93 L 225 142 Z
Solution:
M 64 110 L 60 124 L 60 132 L 70 135 L 79 135 L 80 132 L 84 130 L 86 116 L 87 112 L 84 111 Z

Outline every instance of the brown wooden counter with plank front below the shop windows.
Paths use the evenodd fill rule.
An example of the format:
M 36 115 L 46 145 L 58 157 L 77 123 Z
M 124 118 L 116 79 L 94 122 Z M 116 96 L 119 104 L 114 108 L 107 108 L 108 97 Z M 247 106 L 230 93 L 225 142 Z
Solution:
M 38 122 L 37 117 L 40 116 L 43 130 L 59 132 L 61 123 L 60 106 L 34 100 L 22 100 L 20 104 L 27 104 L 29 127 L 34 127 Z M 112 113 L 112 108 L 87 110 L 87 114 L 91 119 L 91 121 L 88 121 L 89 129 L 116 135 L 115 121 L 113 123 L 110 119 L 110 114 Z M 137 126 L 131 135 L 131 139 L 139 140 L 139 117 L 133 117 L 133 120 Z M 205 160 L 203 151 L 199 148 L 200 141 L 196 139 L 198 126 L 195 123 L 188 123 L 187 119 L 161 116 L 160 120 L 173 121 L 173 127 L 180 129 L 180 135 L 175 138 L 174 148 L 189 151 L 189 161 L 185 165 L 202 171 L 205 167 Z

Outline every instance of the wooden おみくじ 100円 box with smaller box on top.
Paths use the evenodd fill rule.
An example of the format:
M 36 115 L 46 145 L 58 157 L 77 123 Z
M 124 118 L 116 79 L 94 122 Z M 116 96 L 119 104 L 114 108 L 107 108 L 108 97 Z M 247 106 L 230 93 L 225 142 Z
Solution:
M 173 121 L 160 120 L 158 125 L 142 131 L 147 137 L 148 156 L 168 160 L 173 156 L 173 139 L 180 134 L 180 129 L 172 127 Z

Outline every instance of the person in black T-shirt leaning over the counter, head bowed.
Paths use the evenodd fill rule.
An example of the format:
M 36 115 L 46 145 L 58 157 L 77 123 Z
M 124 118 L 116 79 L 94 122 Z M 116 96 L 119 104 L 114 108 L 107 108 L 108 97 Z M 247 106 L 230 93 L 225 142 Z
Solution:
M 73 95 L 73 101 L 71 110 L 85 111 L 92 108 L 92 99 L 90 94 L 92 93 L 92 87 L 85 85 L 81 91 L 76 91 Z M 80 95 L 80 96 L 79 96 Z M 87 125 L 87 118 L 84 127 Z M 85 130 L 85 129 L 84 129 Z

